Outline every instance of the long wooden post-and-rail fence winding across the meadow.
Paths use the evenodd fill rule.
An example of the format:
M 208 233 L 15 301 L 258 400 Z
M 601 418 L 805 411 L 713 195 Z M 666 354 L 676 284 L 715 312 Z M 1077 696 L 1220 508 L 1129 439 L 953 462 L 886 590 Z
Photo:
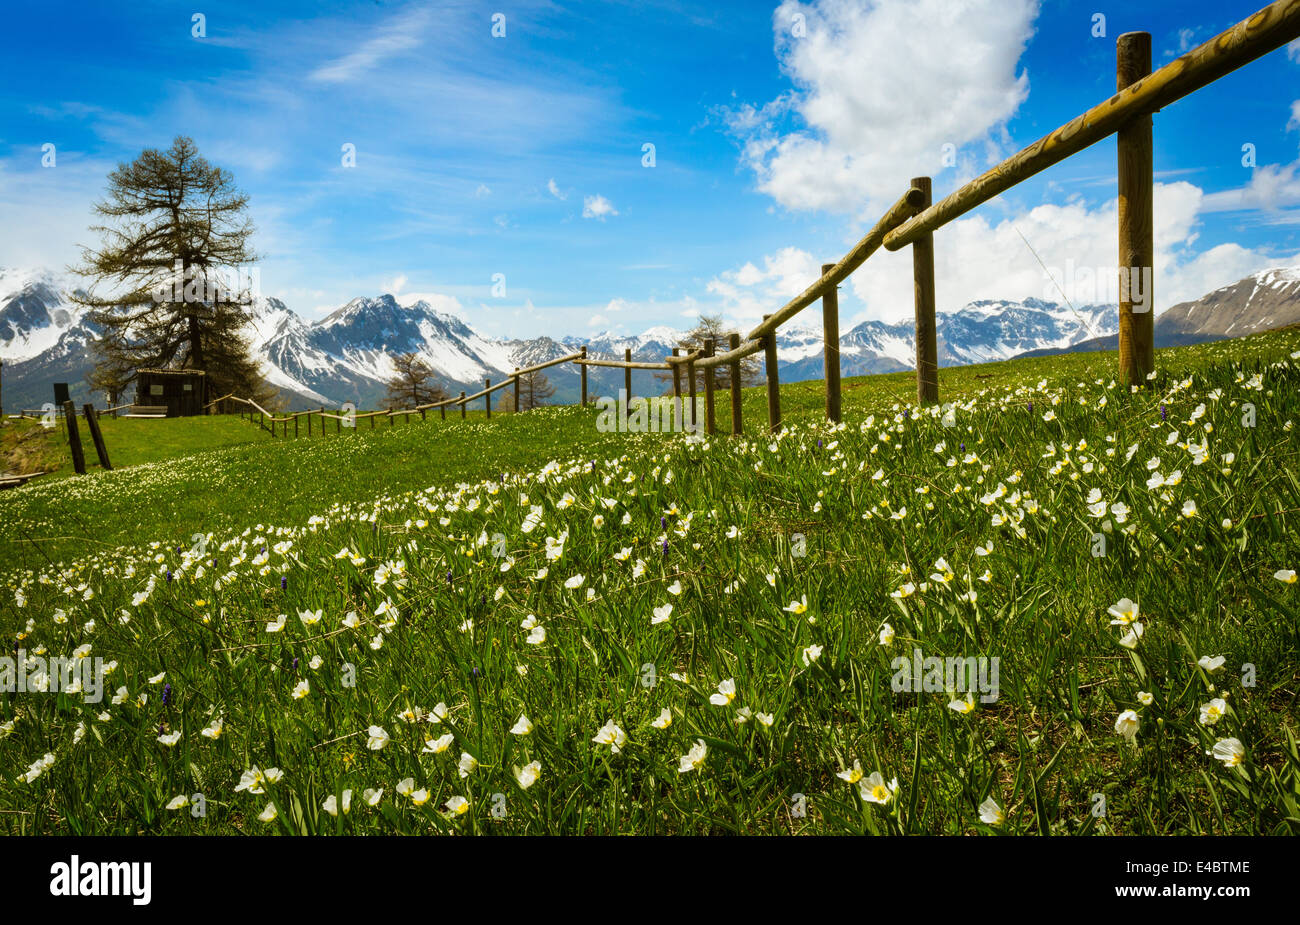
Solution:
M 731 382 L 740 383 L 740 362 L 745 357 L 763 353 L 767 379 L 767 418 L 768 427 L 777 431 L 781 427 L 781 395 L 776 369 L 776 333 L 785 322 L 822 300 L 824 333 L 826 369 L 826 413 L 832 421 L 840 420 L 840 322 L 836 290 L 866 260 L 884 247 L 898 251 L 911 247 L 914 279 L 914 313 L 916 333 L 916 400 L 932 404 L 939 400 L 939 349 L 935 326 L 935 239 L 933 234 L 953 220 L 963 216 L 989 199 L 1006 192 L 1018 183 L 1034 177 L 1046 168 L 1079 153 L 1097 142 L 1117 135 L 1118 149 L 1118 194 L 1119 194 L 1119 372 L 1126 383 L 1143 385 L 1148 373 L 1154 369 L 1154 310 L 1150 287 L 1140 294 L 1135 308 L 1130 279 L 1134 273 L 1139 279 L 1153 277 L 1154 247 L 1153 234 L 1153 190 L 1152 173 L 1152 113 L 1205 87 L 1256 58 L 1275 51 L 1288 42 L 1300 38 L 1300 0 L 1278 0 L 1227 31 L 1193 48 L 1187 55 L 1171 61 L 1160 70 L 1150 70 L 1150 34 L 1124 32 L 1117 39 L 1117 68 L 1114 96 L 1098 103 L 1086 113 L 1070 120 L 1056 131 L 1040 138 L 1034 144 L 1008 157 L 1005 161 L 976 177 L 961 188 L 937 203 L 931 201 L 931 178 L 916 177 L 880 221 L 867 231 L 844 257 L 836 264 L 824 264 L 822 277 L 802 294 L 792 299 L 741 338 L 732 334 L 727 349 L 718 352 L 718 344 L 708 340 L 702 348 L 682 353 L 673 349 L 672 356 L 663 362 L 633 361 L 632 352 L 625 351 L 623 360 L 589 359 L 586 347 L 577 353 L 538 364 L 528 369 L 516 369 L 512 375 L 473 395 L 464 392 L 456 399 L 420 405 L 407 411 L 372 412 L 358 414 L 356 418 L 387 417 L 391 425 L 396 417 L 438 408 L 446 417 L 448 405 L 460 405 L 465 414 L 465 404 L 474 399 L 486 400 L 488 416 L 491 416 L 491 392 L 514 385 L 515 407 L 519 407 L 519 377 L 562 362 L 577 364 L 581 370 L 582 404 L 588 404 L 588 366 L 608 366 L 625 370 L 625 390 L 632 396 L 632 370 L 670 370 L 673 381 L 673 398 L 682 398 L 682 378 L 689 391 L 692 424 L 696 414 L 697 374 L 703 372 L 705 387 L 705 430 L 715 433 L 714 421 L 714 370 L 729 366 Z M 742 433 L 740 390 L 731 388 L 732 431 Z M 307 417 L 308 433 L 312 416 L 321 421 L 334 420 L 342 430 L 343 416 L 318 412 L 298 412 L 276 417 L 260 405 L 246 399 L 228 395 L 217 401 L 235 401 L 248 405 L 248 416 L 259 413 L 259 424 L 276 434 L 277 425 L 287 434 L 289 422 L 294 433 L 299 433 L 298 420 Z M 269 422 L 269 427 L 268 427 Z

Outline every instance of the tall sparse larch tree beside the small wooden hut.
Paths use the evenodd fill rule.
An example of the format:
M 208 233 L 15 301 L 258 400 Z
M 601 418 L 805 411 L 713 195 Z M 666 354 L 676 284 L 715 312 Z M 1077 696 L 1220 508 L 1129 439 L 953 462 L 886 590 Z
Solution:
M 90 283 L 73 299 L 101 331 L 91 388 L 120 398 L 136 369 L 202 369 L 204 400 L 274 400 L 243 335 L 256 296 L 244 268 L 257 259 L 247 205 L 230 173 L 185 136 L 108 175 L 94 205 L 105 221 L 91 227 L 100 247 L 83 247 L 83 264 L 69 268 Z

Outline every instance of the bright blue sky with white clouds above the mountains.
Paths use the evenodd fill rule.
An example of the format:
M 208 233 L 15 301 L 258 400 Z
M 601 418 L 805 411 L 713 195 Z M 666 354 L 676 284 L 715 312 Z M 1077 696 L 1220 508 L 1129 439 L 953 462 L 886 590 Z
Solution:
M 1112 94 L 1121 32 L 1160 66 L 1261 4 L 29 4 L 0 65 L 0 266 L 73 261 L 107 173 L 187 134 L 251 196 L 263 291 L 304 317 L 389 291 L 493 335 L 745 323 L 909 177 L 949 192 Z M 940 231 L 940 309 L 1049 295 L 1024 240 L 1058 281 L 1112 266 L 1114 161 L 1102 142 Z M 1300 47 L 1158 113 L 1157 305 L 1300 262 L 1297 166 Z M 841 301 L 909 317 L 910 257 Z

